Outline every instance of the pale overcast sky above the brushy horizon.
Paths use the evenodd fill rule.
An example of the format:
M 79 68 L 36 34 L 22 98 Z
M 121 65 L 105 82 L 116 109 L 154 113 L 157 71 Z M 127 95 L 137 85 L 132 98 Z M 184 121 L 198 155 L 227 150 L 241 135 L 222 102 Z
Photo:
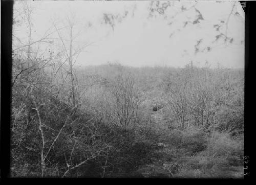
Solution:
M 155 13 L 149 17 L 150 2 L 86 2 L 86 1 L 30 1 L 36 11 L 33 14 L 33 39 L 40 37 L 52 22 L 59 24 L 65 16 L 73 12 L 80 31 L 74 43 L 93 42 L 77 58 L 76 65 L 98 65 L 108 61 L 131 66 L 168 65 L 183 67 L 193 60 L 203 65 L 207 60 L 212 66 L 218 63 L 225 67 L 244 67 L 244 15 L 239 2 L 198 2 L 196 9 L 204 18 L 199 24 L 187 24 L 193 21 L 195 9 L 180 12 L 195 2 L 174 2 L 163 15 Z M 236 6 L 233 8 L 233 4 Z M 18 3 L 14 6 L 18 8 Z M 233 8 L 233 12 L 229 14 Z M 125 15 L 127 11 L 127 15 Z M 238 12 L 236 15 L 234 15 Z M 112 13 L 122 18 L 115 26 L 102 24 L 103 14 Z M 171 18 L 173 15 L 177 16 Z M 231 44 L 223 40 L 213 42 L 219 32 L 213 27 L 221 20 L 228 21 L 227 35 L 233 38 Z M 168 24 L 172 22 L 172 24 Z M 65 22 L 64 22 L 65 24 Z M 223 26 L 225 33 L 226 26 Z M 17 35 L 23 35 L 20 30 Z M 67 32 L 66 32 L 67 33 Z M 68 39 L 68 34 L 66 36 Z M 195 54 L 197 40 L 203 39 L 200 48 L 210 46 L 210 52 Z

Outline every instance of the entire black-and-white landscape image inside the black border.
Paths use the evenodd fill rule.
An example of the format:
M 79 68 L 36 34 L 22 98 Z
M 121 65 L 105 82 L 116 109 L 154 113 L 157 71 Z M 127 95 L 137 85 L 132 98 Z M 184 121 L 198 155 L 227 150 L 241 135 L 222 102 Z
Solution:
M 14 1 L 11 177 L 244 178 L 245 6 Z

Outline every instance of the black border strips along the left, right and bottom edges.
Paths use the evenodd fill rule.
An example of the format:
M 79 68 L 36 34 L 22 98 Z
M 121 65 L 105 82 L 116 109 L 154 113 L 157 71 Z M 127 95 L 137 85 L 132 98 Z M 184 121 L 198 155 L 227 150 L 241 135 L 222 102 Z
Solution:
M 242 2 L 241 2 L 242 3 Z M 1 0 L 1 115 L 0 115 L 0 181 L 15 180 L 15 179 L 30 179 L 30 178 L 10 178 L 10 115 L 11 115 L 11 63 L 12 63 L 12 14 L 13 1 Z M 250 144 L 250 134 L 253 131 L 252 115 L 253 107 L 253 85 L 250 81 L 253 80 L 253 62 L 255 61 L 254 48 L 256 30 L 253 24 L 253 15 L 255 15 L 256 2 L 246 1 L 245 7 L 245 155 L 249 156 L 248 173 L 245 179 L 251 178 L 250 169 L 254 161 Z M 246 165 L 246 164 L 245 164 Z M 37 178 L 33 178 L 37 179 Z M 52 182 L 58 178 L 46 178 Z M 43 181 L 46 179 L 42 179 Z M 80 178 L 79 178 L 80 179 Z M 83 179 L 83 178 L 82 178 Z M 59 179 L 61 180 L 61 179 Z M 74 182 L 76 178 L 63 179 L 65 182 Z M 72 180 L 72 181 L 71 181 Z M 109 179 L 106 179 L 108 181 Z M 122 180 L 122 179 L 120 179 Z M 138 179 L 136 179 L 138 180 Z M 148 182 L 153 182 L 155 179 L 143 179 Z M 152 181 L 153 180 L 153 181 Z M 157 179 L 159 180 L 159 179 Z M 173 179 L 165 179 L 173 180 Z M 179 179 L 180 180 L 180 179 Z M 105 180 L 104 180 L 105 181 Z

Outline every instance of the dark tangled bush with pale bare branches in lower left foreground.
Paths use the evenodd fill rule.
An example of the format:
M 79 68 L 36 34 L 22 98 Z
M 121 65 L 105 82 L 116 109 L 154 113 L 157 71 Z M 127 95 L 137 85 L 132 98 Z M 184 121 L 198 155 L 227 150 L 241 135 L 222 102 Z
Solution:
M 17 99 L 18 94 L 15 95 L 11 140 L 13 175 L 23 175 L 16 169 L 25 163 L 29 164 L 29 176 L 56 175 L 52 165 L 59 169 L 61 176 L 64 170 L 69 172 L 108 148 L 97 140 L 90 115 L 59 101 L 50 92 L 31 88 L 27 98 Z

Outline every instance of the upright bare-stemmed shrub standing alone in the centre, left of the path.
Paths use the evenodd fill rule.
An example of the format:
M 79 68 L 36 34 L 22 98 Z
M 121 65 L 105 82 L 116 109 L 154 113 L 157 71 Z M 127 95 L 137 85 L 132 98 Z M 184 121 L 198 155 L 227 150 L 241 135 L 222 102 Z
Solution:
M 105 100 L 105 117 L 124 130 L 138 122 L 140 102 L 134 83 L 130 75 L 118 76 L 109 86 L 109 97 Z

